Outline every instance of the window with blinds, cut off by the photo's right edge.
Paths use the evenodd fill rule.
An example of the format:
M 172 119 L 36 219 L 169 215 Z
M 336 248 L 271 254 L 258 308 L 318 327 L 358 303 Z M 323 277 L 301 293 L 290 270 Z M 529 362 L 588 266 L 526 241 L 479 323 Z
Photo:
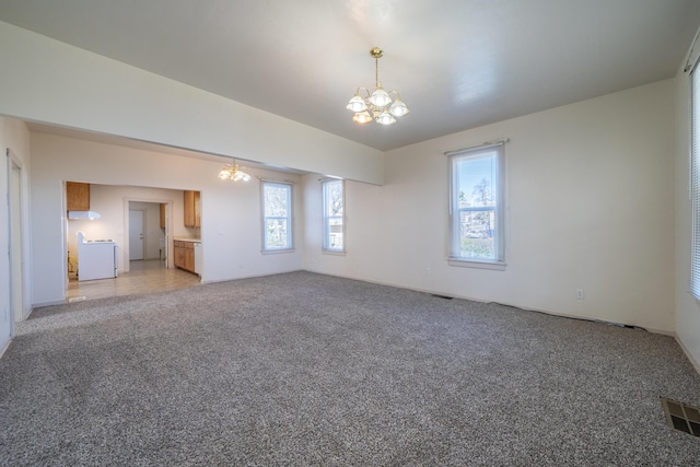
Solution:
M 690 74 L 690 202 L 692 205 L 692 244 L 690 293 L 700 300 L 700 71 Z

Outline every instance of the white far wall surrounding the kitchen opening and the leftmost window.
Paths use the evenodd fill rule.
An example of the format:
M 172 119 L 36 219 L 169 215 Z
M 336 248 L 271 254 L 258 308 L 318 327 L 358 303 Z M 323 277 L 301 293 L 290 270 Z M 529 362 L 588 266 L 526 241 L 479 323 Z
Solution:
M 302 268 L 303 245 L 292 253 L 262 255 L 258 177 L 299 182 L 299 176 L 273 171 L 250 170 L 249 183 L 219 179 L 221 163 L 180 157 L 112 144 L 77 140 L 45 133 L 31 133 L 32 143 L 32 222 L 34 248 L 33 303 L 61 302 L 65 297 L 67 256 L 63 225 L 63 182 L 125 186 L 129 196 L 149 200 L 150 191 L 136 187 L 201 191 L 205 282 L 262 276 Z M 122 188 L 120 188 L 122 189 Z M 122 189 L 124 190 L 124 189 Z M 295 192 L 295 206 L 301 196 Z M 121 197 L 127 196 L 121 191 Z M 160 197 L 160 195 L 159 195 Z M 160 199 L 160 198 L 159 198 Z M 96 200 L 96 202 L 106 202 Z M 182 225 L 182 196 L 174 199 L 174 225 Z M 124 212 L 124 207 L 103 207 Z M 303 207 L 296 219 L 303 219 Z M 119 214 L 117 214 L 118 217 Z M 177 219 L 180 219 L 179 221 Z M 71 221 L 72 222 L 72 221 Z M 118 224 L 118 221 L 115 221 Z M 114 225 L 110 227 L 114 230 Z M 119 227 L 117 227 L 119 229 Z M 126 231 L 124 231 L 126 232 Z M 174 230 L 175 235 L 183 230 Z M 303 225 L 296 222 L 295 234 Z M 122 241 L 118 232 L 104 232 Z M 121 240 L 120 240 L 121 238 Z M 125 252 L 126 253 L 126 252 Z

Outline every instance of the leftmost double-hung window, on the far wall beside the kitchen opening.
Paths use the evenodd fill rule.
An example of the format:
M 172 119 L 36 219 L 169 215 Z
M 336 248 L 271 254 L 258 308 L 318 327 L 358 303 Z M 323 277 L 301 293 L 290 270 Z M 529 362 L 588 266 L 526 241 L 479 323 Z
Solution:
M 292 247 L 292 186 L 262 182 L 262 250 Z

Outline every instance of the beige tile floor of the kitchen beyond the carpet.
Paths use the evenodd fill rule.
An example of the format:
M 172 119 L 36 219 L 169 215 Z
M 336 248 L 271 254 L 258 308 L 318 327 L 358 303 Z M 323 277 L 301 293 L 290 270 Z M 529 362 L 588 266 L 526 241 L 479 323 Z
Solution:
M 182 269 L 165 268 L 159 259 L 131 261 L 130 271 L 115 279 L 100 279 L 79 282 L 71 276 L 66 299 L 69 302 L 105 299 L 118 295 L 159 292 L 200 284 L 199 276 Z

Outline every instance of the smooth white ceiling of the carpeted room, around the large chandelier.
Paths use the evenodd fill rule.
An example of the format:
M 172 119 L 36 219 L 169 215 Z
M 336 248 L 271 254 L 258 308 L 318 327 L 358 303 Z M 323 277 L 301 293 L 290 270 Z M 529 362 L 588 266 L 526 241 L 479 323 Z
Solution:
M 0 21 L 378 150 L 672 78 L 698 0 L 0 0 Z M 380 80 L 411 113 L 359 126 Z

